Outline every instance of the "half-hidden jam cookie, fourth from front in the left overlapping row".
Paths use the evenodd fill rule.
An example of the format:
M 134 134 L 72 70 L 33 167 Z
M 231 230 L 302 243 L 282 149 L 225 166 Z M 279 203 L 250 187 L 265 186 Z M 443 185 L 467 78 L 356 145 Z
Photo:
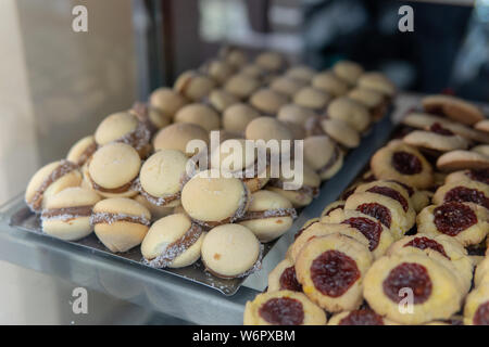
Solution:
M 413 224 L 398 201 L 381 194 L 354 193 L 347 200 L 344 209 L 358 210 L 374 217 L 390 230 L 396 240 L 402 237 Z

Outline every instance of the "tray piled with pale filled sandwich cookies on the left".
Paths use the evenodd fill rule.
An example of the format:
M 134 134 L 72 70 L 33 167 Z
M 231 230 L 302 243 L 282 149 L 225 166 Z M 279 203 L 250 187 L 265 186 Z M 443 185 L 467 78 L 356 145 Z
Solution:
M 40 168 L 10 224 L 233 295 L 300 228 L 302 209 L 329 194 L 322 182 L 375 132 L 394 95 L 384 75 L 353 62 L 318 73 L 276 52 L 251 61 L 223 49 Z M 220 175 L 223 149 L 247 141 L 298 143 L 278 153 L 290 164 L 303 149 L 300 187 L 287 188 L 296 177 L 285 170 L 271 174 L 272 151 L 262 166 L 235 155 Z

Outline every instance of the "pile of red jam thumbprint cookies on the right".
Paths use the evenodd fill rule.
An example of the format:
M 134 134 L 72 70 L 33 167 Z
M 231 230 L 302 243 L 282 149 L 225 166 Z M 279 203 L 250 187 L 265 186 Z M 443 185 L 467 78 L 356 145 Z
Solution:
M 247 325 L 489 325 L 487 108 L 422 98 L 304 223 Z

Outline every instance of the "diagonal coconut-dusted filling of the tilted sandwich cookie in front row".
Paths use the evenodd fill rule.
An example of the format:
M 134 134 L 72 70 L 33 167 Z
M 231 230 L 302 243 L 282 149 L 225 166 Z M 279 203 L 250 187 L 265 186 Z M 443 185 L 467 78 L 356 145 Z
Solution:
M 197 223 L 192 223 L 181 237 L 168 244 L 158 257 L 143 259 L 143 262 L 153 268 L 168 267 L 178 256 L 190 248 L 201 235 L 202 228 Z

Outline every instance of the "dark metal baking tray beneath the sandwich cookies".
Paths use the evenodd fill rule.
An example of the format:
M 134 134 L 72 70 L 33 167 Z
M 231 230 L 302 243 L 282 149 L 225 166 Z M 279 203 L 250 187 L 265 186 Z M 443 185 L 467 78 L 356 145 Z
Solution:
M 351 151 L 344 159 L 344 164 L 342 169 L 335 176 L 335 178 L 330 179 L 327 182 L 324 182 L 321 187 L 321 193 L 318 198 L 314 200 L 312 204 L 308 207 L 299 210 L 298 219 L 294 221 L 289 231 L 283 235 L 278 241 L 274 241 L 264 245 L 263 249 L 263 264 L 268 266 L 261 271 L 252 274 L 258 281 L 259 284 L 253 285 L 253 281 L 250 287 L 254 287 L 256 290 L 263 290 L 264 279 L 268 273 L 269 264 L 278 262 L 278 258 L 280 258 L 281 250 L 274 252 L 274 248 L 277 243 L 279 244 L 290 244 L 290 235 L 293 235 L 299 229 L 301 229 L 302 224 L 305 220 L 312 218 L 310 216 L 318 215 L 317 210 L 322 210 L 324 206 L 328 203 L 328 201 L 334 201 L 351 182 L 351 180 L 358 176 L 360 170 L 365 166 L 367 160 L 369 159 L 373 152 L 380 146 L 390 132 L 393 129 L 393 125 L 390 120 L 391 110 L 386 114 L 383 120 L 373 125 L 369 131 L 362 139 L 361 145 Z M 130 264 L 135 267 L 149 268 L 152 271 L 168 273 L 171 275 L 175 275 L 181 278 L 186 281 L 191 281 L 213 290 L 221 292 L 224 295 L 230 296 L 234 295 L 239 287 L 243 284 L 247 278 L 238 278 L 238 279 L 220 279 L 204 270 L 202 262 L 199 260 L 192 266 L 180 268 L 180 269 L 155 269 L 151 268 L 141 262 L 142 255 L 140 252 L 140 247 L 134 247 L 133 249 L 114 254 L 111 253 L 105 246 L 97 239 L 97 236 L 91 233 L 89 236 L 82 239 L 79 241 L 68 242 L 60 239 L 55 239 L 48 234 L 45 234 L 40 228 L 40 218 L 38 215 L 33 214 L 27 205 L 22 202 L 13 209 L 13 213 L 10 216 L 4 216 L 9 220 L 9 224 L 20 231 L 29 232 L 38 235 L 39 237 L 49 237 L 54 243 L 59 243 L 61 245 L 70 244 L 71 246 L 88 250 L 92 254 L 102 255 L 105 257 L 110 257 L 116 259 L 117 261 L 123 261 L 126 264 Z M 285 237 L 284 237 L 285 236 Z M 284 246 L 281 247 L 284 248 Z M 268 253 L 273 255 L 273 257 L 268 257 Z M 272 261 L 267 261 L 272 259 Z M 277 260 L 276 260 L 277 259 Z M 265 270 L 265 271 L 264 271 Z M 258 279 L 258 280 L 256 280 Z

